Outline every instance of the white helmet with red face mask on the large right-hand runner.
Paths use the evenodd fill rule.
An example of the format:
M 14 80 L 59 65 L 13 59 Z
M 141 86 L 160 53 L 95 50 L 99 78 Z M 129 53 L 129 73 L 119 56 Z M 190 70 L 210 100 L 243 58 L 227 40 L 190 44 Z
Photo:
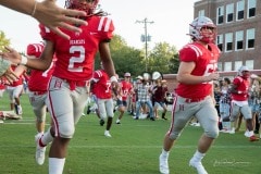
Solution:
M 203 27 L 211 28 L 212 32 L 203 33 L 201 30 Z M 189 35 L 194 41 L 213 42 L 216 36 L 216 26 L 209 17 L 199 16 L 189 24 Z

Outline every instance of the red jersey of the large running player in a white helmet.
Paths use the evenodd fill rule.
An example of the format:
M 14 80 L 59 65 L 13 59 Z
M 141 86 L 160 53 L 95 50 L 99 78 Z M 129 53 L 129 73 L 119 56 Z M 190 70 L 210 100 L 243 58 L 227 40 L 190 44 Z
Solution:
M 208 45 L 209 49 L 201 44 L 192 42 L 186 45 L 179 50 L 179 59 L 182 62 L 195 62 L 196 66 L 191 75 L 208 76 L 217 70 L 217 59 L 220 50 L 214 44 Z M 184 98 L 204 98 L 212 91 L 213 82 L 187 85 L 178 84 L 175 92 Z

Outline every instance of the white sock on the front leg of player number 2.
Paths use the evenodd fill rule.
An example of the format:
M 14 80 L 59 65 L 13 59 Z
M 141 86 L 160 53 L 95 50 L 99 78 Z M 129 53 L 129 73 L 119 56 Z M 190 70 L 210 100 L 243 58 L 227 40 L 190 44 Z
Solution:
M 49 174 L 62 174 L 65 163 L 64 159 L 49 158 Z

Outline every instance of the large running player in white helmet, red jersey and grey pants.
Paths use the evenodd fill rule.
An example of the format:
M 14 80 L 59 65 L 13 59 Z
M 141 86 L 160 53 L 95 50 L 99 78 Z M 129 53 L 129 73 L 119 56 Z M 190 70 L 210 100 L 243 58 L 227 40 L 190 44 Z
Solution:
M 219 48 L 213 44 L 216 26 L 206 16 L 197 17 L 189 25 L 192 42 L 179 50 L 181 64 L 177 73 L 179 84 L 175 89 L 171 127 L 164 136 L 160 154 L 160 172 L 169 174 L 169 153 L 182 130 L 192 116 L 199 121 L 204 133 L 189 165 L 198 173 L 207 174 L 201 160 L 219 135 L 219 116 L 215 109 L 213 80 L 219 78 Z

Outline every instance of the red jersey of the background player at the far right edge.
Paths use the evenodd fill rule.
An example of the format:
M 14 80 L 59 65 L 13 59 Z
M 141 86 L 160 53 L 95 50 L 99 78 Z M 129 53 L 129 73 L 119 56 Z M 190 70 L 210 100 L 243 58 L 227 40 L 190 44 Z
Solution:
M 248 100 L 248 90 L 249 90 L 249 80 L 237 76 L 234 78 L 233 84 L 237 86 L 237 90 L 243 94 L 232 94 L 232 100 L 235 101 L 247 101 Z

